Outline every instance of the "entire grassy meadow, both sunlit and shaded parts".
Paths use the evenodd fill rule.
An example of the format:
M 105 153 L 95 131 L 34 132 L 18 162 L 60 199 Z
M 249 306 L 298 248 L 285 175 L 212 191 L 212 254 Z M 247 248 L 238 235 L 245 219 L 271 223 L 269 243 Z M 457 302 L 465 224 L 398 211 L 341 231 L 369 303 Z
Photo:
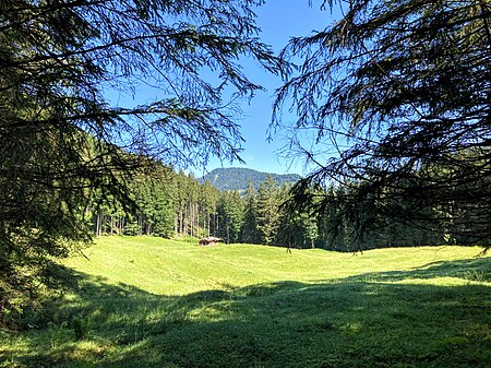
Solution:
M 489 367 L 477 253 L 99 238 L 64 262 L 76 289 L 0 335 L 0 367 Z

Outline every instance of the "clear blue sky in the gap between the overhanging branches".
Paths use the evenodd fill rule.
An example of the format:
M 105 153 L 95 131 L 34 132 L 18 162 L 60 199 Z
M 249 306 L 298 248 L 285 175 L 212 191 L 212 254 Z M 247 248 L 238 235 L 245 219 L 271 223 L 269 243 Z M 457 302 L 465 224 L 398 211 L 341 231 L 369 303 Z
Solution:
M 322 1 L 313 1 L 309 7 L 308 0 L 267 0 L 264 5 L 258 8 L 258 24 L 262 28 L 261 39 L 273 46 L 278 52 L 292 36 L 306 36 L 313 31 L 322 31 L 334 21 L 334 15 L 330 10 L 321 11 Z M 242 158 L 247 165 L 239 163 L 220 163 L 214 158 L 206 166 L 205 171 L 211 171 L 217 167 L 248 167 L 260 171 L 286 174 L 296 173 L 303 175 L 303 163 L 282 158 L 278 151 L 286 143 L 277 134 L 273 142 L 267 142 L 267 127 L 272 117 L 272 105 L 274 102 L 274 91 L 282 85 L 282 80 L 265 73 L 253 63 L 244 63 L 246 74 L 253 82 L 263 85 L 267 91 L 260 92 L 248 104 L 242 105 L 244 112 L 243 120 L 240 121 L 242 135 L 246 139 L 243 144 Z M 285 116 L 285 119 L 288 119 Z M 290 117 L 295 118 L 295 117 Z M 195 173 L 201 176 L 202 173 Z

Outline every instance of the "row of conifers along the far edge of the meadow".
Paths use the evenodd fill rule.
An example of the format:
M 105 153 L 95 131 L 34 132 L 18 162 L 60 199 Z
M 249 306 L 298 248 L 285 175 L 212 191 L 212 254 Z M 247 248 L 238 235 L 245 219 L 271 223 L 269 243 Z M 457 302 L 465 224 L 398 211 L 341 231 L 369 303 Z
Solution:
M 128 203 L 94 197 L 85 217 L 97 236 L 212 235 L 227 244 L 339 251 L 467 242 L 453 234 L 451 203 L 428 209 L 426 218 L 404 223 L 384 214 L 378 198 L 354 198 L 356 186 L 356 190 L 335 185 L 306 189 L 303 183 L 278 185 L 267 177 L 259 187 L 250 181 L 244 192 L 218 190 L 209 181 L 200 183 L 192 174 L 157 163 L 128 181 Z M 398 205 L 410 211 L 411 203 Z

